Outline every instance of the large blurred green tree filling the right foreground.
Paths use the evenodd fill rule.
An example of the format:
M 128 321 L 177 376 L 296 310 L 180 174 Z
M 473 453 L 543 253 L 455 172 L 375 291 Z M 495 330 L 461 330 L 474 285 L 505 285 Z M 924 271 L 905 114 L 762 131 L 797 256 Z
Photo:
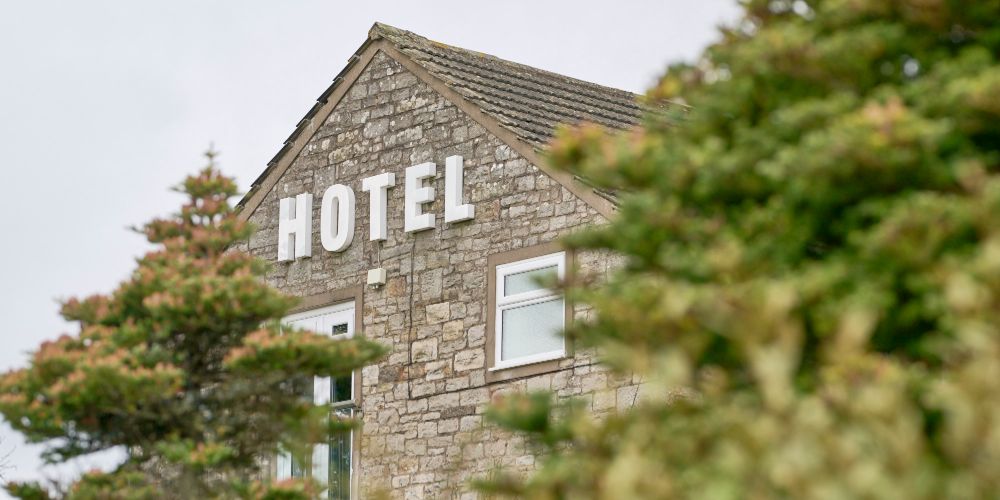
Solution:
M 568 332 L 645 381 L 599 421 L 494 420 L 526 498 L 997 498 L 1000 2 L 753 0 L 631 133 L 553 164 L 620 194 Z

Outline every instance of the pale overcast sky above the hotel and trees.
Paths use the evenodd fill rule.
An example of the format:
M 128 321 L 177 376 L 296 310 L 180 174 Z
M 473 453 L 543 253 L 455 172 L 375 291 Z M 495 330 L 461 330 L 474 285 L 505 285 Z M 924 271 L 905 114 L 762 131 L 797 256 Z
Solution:
M 635 92 L 690 60 L 734 0 L 0 0 L 0 370 L 73 332 L 57 299 L 108 292 L 209 143 L 246 189 L 375 21 Z M 8 478 L 40 448 L 0 425 Z M 3 498 L 0 492 L 0 498 Z

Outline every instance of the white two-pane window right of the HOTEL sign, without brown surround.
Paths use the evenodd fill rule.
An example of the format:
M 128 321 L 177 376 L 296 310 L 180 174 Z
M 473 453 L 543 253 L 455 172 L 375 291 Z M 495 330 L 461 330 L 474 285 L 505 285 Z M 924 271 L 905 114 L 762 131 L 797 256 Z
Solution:
M 491 370 L 566 356 L 566 300 L 547 288 L 565 273 L 565 252 L 496 266 L 496 345 Z

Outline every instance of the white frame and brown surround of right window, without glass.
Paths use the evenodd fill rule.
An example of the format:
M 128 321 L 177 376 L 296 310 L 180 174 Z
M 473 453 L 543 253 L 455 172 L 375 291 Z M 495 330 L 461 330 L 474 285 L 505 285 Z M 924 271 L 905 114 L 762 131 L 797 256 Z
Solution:
M 557 265 L 560 280 L 571 276 L 573 253 L 558 242 L 543 243 L 487 257 L 486 304 L 486 382 L 500 382 L 548 373 L 561 369 L 560 365 L 573 356 L 570 339 L 563 339 L 561 351 L 548 351 L 510 360 L 501 359 L 503 311 L 516 307 L 539 304 L 550 300 L 563 301 L 563 329 L 572 323 L 572 304 L 558 290 L 541 289 L 504 297 L 506 286 L 503 277 Z

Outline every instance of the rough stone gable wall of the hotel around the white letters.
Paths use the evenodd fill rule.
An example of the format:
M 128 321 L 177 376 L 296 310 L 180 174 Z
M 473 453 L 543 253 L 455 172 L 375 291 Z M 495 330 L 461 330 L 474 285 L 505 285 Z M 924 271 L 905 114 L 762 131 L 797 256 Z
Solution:
M 465 158 L 466 202 L 476 214 L 446 224 L 444 159 L 451 155 Z M 404 233 L 404 169 L 425 161 L 438 165 L 436 201 L 425 205 L 425 212 L 438 215 L 437 226 Z M 389 191 L 388 239 L 370 242 L 361 179 L 389 171 L 397 182 Z M 465 498 L 472 494 L 464 492 L 464 481 L 497 464 L 531 469 L 530 453 L 484 422 L 487 404 L 504 392 L 552 389 L 587 398 L 595 412 L 634 403 L 631 380 L 613 378 L 580 351 L 557 371 L 486 383 L 487 257 L 556 240 L 602 218 L 383 53 L 252 214 L 258 229 L 244 249 L 275 261 L 278 200 L 313 193 L 318 221 L 323 191 L 336 183 L 357 193 L 353 244 L 342 253 L 324 251 L 314 222 L 313 256 L 275 262 L 268 280 L 289 294 L 310 296 L 362 285 L 368 269 L 379 265 L 387 270 L 387 285 L 366 288 L 359 304 L 360 332 L 391 349 L 361 374 L 364 426 L 356 471 L 363 491 Z M 596 255 L 576 261 L 587 272 L 602 273 L 609 265 Z

